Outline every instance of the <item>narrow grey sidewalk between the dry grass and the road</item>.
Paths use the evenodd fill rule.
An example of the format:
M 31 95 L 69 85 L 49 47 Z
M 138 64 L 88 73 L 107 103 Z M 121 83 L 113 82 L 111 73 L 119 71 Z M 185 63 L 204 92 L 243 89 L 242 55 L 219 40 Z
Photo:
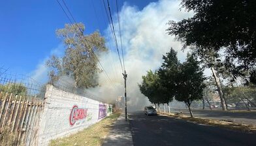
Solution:
M 129 121 L 125 121 L 125 115 L 121 114 L 114 127 L 106 136 L 103 146 L 133 146 L 133 137 Z

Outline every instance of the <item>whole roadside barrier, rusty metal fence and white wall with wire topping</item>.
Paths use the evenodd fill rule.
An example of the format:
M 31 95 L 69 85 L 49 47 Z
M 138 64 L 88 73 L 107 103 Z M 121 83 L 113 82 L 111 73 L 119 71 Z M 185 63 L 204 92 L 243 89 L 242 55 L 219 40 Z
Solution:
M 64 79 L 46 86 L 0 67 L 0 145 L 47 145 L 112 114 L 103 97 L 71 84 Z

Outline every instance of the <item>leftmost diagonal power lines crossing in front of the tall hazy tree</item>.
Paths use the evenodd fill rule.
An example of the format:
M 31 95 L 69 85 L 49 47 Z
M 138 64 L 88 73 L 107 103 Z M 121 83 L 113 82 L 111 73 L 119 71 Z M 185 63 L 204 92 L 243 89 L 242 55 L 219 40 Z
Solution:
M 57 3 L 59 3 L 59 0 L 56 0 L 56 1 L 57 1 Z M 73 21 L 74 21 L 74 23 L 75 23 L 76 26 L 74 26 L 74 23 L 72 23 L 71 18 L 69 18 L 69 15 L 68 15 L 67 12 L 65 11 L 65 9 L 64 9 L 63 6 L 61 5 L 61 3 L 59 3 L 59 6 L 61 6 L 61 9 L 62 9 L 63 12 L 66 14 L 66 16 L 67 16 L 67 18 L 69 19 L 69 21 L 71 22 L 72 27 L 74 27 L 74 28 L 78 27 L 78 25 L 76 24 L 76 20 L 74 19 L 74 17 L 72 16 L 71 11 L 69 10 L 69 8 L 67 7 L 67 5 L 65 4 L 65 1 L 64 1 L 64 0 L 62 0 L 62 1 L 63 1 L 63 4 L 65 5 L 65 7 L 67 8 L 67 10 L 68 10 L 68 12 L 69 12 L 69 14 L 70 14 L 71 18 L 73 19 Z M 75 30 L 76 30 L 76 29 L 75 29 Z M 79 27 L 78 27 L 78 30 L 80 30 Z M 76 30 L 76 31 L 77 31 L 77 30 Z M 80 35 L 79 35 L 79 34 L 80 34 Z M 80 33 L 78 32 L 78 35 L 81 37 L 82 34 L 83 34 L 82 30 L 80 30 Z M 87 40 L 86 40 L 86 38 L 84 38 L 84 35 L 82 35 L 81 38 L 82 38 L 82 41 L 85 40 L 86 43 L 88 43 Z M 86 45 L 86 43 L 84 43 L 84 44 Z M 89 45 L 89 43 L 88 43 L 88 45 Z M 87 46 L 86 46 L 86 47 L 87 47 Z M 88 48 L 89 48 L 89 47 L 88 47 Z M 90 49 L 88 49 L 88 50 L 90 51 Z M 95 56 L 95 58 L 97 59 L 97 62 L 99 62 L 99 65 L 100 65 L 100 67 L 103 69 L 104 75 L 106 75 L 106 78 L 108 79 L 108 82 L 110 82 L 110 84 L 111 84 L 112 87 L 114 88 L 114 85 L 112 84 L 110 78 L 108 77 L 108 75 L 107 75 L 107 73 L 106 73 L 104 67 L 102 66 L 101 62 L 99 61 L 99 58 L 97 58 L 97 56 L 95 55 L 95 53 L 93 52 L 92 49 L 91 49 L 91 53 Z

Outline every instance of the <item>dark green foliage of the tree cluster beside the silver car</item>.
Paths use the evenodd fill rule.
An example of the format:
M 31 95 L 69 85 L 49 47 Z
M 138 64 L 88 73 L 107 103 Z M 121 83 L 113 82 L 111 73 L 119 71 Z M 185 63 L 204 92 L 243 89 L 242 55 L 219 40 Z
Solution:
M 188 55 L 183 64 L 180 64 L 176 55 L 176 51 L 170 49 L 163 56 L 164 62 L 159 70 L 155 73 L 148 71 L 138 86 L 152 103 L 169 103 L 175 97 L 177 101 L 187 104 L 191 111 L 192 101 L 202 99 L 205 87 L 202 69 L 194 55 Z

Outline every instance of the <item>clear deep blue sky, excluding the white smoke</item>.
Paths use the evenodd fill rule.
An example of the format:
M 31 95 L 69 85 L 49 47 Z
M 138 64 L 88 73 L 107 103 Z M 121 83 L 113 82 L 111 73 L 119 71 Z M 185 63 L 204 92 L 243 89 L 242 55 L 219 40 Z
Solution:
M 142 10 L 152 1 L 119 0 L 118 3 L 120 9 L 126 3 Z M 97 29 L 103 32 L 107 28 L 101 0 L 65 2 L 76 21 L 86 25 L 86 34 Z M 110 6 L 114 3 L 110 0 Z M 0 66 L 22 74 L 31 73 L 50 55 L 52 49 L 59 46 L 61 42 L 56 38 L 55 31 L 69 23 L 57 1 L 49 0 L 2 1 L 0 19 Z

